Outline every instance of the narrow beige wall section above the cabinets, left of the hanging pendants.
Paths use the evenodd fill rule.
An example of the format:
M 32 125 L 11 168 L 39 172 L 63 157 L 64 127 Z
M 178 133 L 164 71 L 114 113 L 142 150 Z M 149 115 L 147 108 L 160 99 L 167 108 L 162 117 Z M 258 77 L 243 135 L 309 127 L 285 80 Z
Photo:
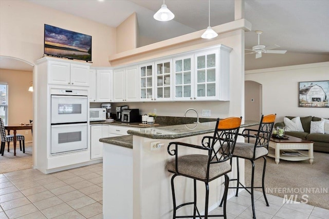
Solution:
M 137 41 L 137 16 L 130 15 L 117 28 L 117 53 L 135 49 Z

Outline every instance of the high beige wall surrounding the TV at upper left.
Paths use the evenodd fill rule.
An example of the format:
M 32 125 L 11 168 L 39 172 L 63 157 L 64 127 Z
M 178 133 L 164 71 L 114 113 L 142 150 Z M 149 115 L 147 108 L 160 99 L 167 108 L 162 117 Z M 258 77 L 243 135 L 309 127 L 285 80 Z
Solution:
M 34 63 L 43 56 L 44 24 L 91 35 L 93 66 L 110 66 L 108 55 L 116 53 L 115 28 L 18 0 L 0 1 L 0 55 Z

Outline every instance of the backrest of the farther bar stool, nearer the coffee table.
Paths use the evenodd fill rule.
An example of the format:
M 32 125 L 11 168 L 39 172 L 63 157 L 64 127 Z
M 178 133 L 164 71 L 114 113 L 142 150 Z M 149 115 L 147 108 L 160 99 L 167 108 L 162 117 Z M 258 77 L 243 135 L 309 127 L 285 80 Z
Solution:
M 268 149 L 269 139 L 272 135 L 272 129 L 275 120 L 276 114 L 262 115 L 261 122 L 258 128 L 255 147 L 266 147 L 266 149 Z

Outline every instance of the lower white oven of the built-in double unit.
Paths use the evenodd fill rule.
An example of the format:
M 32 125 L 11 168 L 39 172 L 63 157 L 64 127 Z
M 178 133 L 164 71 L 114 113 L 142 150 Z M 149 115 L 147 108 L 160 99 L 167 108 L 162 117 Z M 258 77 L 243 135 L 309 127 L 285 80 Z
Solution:
M 87 149 L 87 123 L 51 126 L 50 154 Z

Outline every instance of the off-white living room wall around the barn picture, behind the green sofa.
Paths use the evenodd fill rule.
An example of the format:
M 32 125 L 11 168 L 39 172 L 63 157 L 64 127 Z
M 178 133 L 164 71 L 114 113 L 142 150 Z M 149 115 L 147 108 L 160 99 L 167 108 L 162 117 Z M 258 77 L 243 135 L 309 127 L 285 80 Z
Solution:
M 245 81 L 254 81 L 263 87 L 263 114 L 277 113 L 276 121 L 284 116 L 329 117 L 328 108 L 298 107 L 299 82 L 328 81 L 329 62 L 245 72 Z

